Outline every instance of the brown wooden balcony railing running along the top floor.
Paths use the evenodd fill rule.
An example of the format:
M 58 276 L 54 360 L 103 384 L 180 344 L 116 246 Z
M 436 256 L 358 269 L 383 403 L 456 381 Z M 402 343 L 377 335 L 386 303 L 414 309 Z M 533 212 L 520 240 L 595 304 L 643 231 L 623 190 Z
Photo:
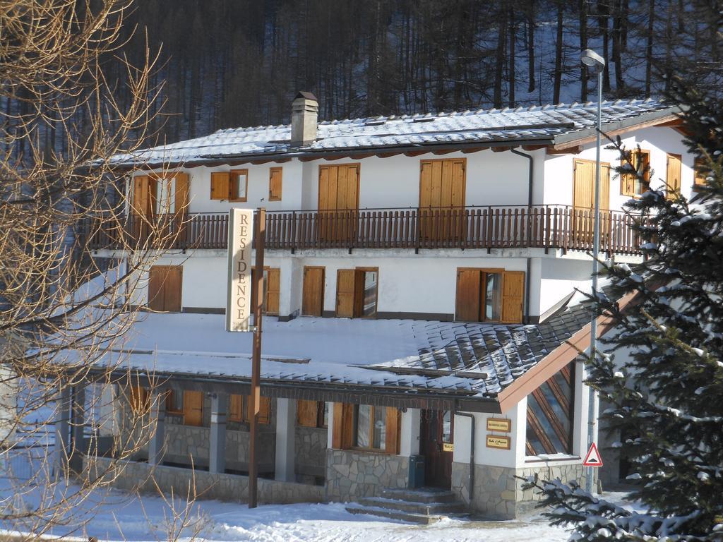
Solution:
M 593 213 L 565 205 L 490 206 L 457 209 L 364 209 L 267 212 L 268 249 L 508 249 L 591 250 Z M 112 227 L 108 224 L 114 224 Z M 226 249 L 228 215 L 199 213 L 155 218 L 163 247 Z M 639 253 L 635 218 L 603 211 L 600 250 Z M 89 218 L 80 225 L 88 247 L 119 249 L 153 239 L 145 218 Z M 158 230 L 156 230 L 158 231 Z M 119 236 L 124 236 L 125 244 Z

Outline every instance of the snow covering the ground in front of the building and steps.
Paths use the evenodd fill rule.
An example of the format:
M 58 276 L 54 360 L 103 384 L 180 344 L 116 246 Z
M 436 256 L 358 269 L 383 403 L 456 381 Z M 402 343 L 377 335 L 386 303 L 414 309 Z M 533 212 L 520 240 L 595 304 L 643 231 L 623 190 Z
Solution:
M 0 483 L 0 499 L 12 498 L 8 486 Z M 64 489 L 65 495 L 76 489 Z M 58 491 L 61 494 L 62 490 Z M 31 502 L 33 496 L 27 496 Z M 159 496 L 142 499 L 117 490 L 95 490 L 73 509 L 67 526 L 54 527 L 48 535 L 87 541 L 159 541 L 178 536 L 180 541 L 218 542 L 557 542 L 569 533 L 553 528 L 544 520 L 528 522 L 475 522 L 444 520 L 435 525 L 411 525 L 381 518 L 351 515 L 343 504 L 275 504 L 249 509 L 245 504 L 203 501 L 192 505 L 185 517 L 187 526 L 179 532 L 173 510 L 181 512 L 184 503 Z M 86 522 L 79 527 L 79 522 Z M 20 526 L 3 525 L 8 530 Z M 170 532 L 174 534 L 171 534 Z M 65 538 L 65 537 L 64 537 Z

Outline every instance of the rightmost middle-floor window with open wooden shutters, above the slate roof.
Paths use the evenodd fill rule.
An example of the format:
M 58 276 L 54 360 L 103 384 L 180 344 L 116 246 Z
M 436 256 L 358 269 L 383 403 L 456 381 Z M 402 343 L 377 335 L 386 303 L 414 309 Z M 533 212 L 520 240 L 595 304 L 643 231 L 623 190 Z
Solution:
M 521 323 L 524 291 L 523 271 L 460 267 L 457 270 L 455 319 Z

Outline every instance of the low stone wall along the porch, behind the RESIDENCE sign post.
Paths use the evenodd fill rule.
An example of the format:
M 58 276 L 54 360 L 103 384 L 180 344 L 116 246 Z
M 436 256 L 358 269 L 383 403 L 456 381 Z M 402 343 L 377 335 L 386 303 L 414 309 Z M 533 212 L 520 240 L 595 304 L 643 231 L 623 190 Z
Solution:
M 106 473 L 119 489 L 157 494 L 156 484 L 164 494 L 200 495 L 202 499 L 220 499 L 229 502 L 248 502 L 248 476 L 213 474 L 189 468 L 153 466 L 134 461 L 115 461 L 105 457 L 85 457 L 84 468 L 88 476 Z M 324 488 L 304 483 L 258 479 L 258 502 L 262 504 L 291 504 L 295 502 L 323 502 Z M 189 492 L 190 491 L 190 492 Z

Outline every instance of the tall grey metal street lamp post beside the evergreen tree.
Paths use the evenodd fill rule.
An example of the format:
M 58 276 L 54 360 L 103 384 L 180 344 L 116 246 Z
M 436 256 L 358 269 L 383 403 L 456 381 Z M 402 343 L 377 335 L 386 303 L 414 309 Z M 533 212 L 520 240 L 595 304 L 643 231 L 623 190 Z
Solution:
M 598 256 L 600 251 L 600 117 L 602 116 L 602 69 L 605 60 L 595 51 L 585 49 L 580 58 L 588 69 L 597 70 L 597 122 L 596 122 L 596 148 L 595 148 L 595 208 L 593 211 L 593 234 L 592 234 L 592 295 L 597 296 L 597 272 Z M 594 356 L 597 349 L 597 302 L 593 304 L 593 314 L 590 321 L 590 356 Z M 588 398 L 588 449 L 590 449 L 595 431 L 595 392 L 589 387 Z M 592 492 L 592 479 L 594 467 L 587 468 L 585 489 Z

